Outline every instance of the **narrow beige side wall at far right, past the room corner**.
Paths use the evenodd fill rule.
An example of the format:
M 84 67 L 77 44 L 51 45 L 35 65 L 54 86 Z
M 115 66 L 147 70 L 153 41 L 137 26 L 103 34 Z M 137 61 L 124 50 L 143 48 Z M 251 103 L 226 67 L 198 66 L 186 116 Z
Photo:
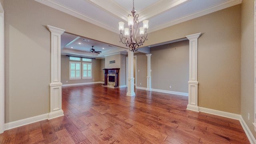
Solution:
M 241 115 L 254 137 L 254 1 L 242 3 Z M 250 113 L 250 120 L 248 120 Z

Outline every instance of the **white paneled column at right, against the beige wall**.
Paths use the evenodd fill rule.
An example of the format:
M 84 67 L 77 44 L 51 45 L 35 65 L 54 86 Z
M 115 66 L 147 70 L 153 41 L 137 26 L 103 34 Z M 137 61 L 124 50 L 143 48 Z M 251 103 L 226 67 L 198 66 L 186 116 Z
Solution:
M 186 36 L 189 40 L 189 81 L 187 110 L 199 112 L 198 108 L 198 81 L 197 81 L 197 49 L 198 38 L 201 33 Z

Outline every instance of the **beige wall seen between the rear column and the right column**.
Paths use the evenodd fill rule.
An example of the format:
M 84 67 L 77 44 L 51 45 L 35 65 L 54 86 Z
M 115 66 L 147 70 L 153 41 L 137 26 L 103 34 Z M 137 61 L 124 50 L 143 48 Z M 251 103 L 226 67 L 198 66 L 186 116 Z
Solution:
M 189 41 L 155 46 L 150 53 L 152 88 L 188 93 Z

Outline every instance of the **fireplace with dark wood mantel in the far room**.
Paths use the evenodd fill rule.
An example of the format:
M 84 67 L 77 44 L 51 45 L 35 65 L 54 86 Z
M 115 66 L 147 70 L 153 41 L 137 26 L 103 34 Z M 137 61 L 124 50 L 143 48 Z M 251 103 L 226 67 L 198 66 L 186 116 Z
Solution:
M 120 68 L 103 68 L 104 70 L 104 86 L 108 85 L 109 82 L 115 82 L 115 88 L 118 88 L 119 70 Z M 110 75 L 109 75 L 110 74 Z M 113 76 L 115 74 L 115 76 Z

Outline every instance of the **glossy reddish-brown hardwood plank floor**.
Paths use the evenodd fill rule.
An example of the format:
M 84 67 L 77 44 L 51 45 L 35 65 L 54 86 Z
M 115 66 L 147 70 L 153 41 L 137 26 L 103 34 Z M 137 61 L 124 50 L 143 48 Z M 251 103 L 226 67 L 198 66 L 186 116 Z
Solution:
M 186 110 L 187 96 L 62 87 L 64 115 L 0 134 L 1 144 L 249 144 L 238 120 Z

